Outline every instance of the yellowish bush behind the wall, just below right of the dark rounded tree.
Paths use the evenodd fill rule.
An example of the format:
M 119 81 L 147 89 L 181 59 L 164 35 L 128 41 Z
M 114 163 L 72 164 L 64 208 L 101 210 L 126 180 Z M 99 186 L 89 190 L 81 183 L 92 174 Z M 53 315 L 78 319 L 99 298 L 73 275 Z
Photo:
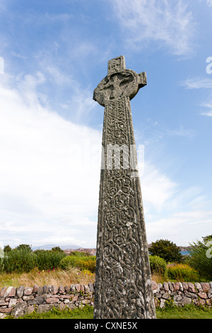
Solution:
M 168 265 L 167 276 L 177 281 L 199 281 L 199 273 L 187 264 Z

